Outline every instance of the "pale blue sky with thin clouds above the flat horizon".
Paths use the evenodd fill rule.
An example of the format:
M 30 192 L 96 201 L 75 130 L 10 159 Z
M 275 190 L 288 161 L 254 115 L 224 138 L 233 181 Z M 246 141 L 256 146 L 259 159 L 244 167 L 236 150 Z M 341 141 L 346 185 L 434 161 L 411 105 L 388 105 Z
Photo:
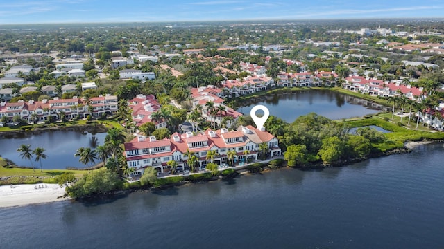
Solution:
M 0 24 L 444 17 L 442 0 L 2 0 Z

